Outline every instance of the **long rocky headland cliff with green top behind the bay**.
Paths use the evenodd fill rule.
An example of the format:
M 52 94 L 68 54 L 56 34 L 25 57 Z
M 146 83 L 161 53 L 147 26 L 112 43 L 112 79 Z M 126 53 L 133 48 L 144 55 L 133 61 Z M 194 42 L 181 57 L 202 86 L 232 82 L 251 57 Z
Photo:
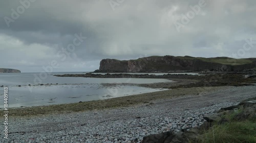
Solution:
M 224 59 L 224 60 L 223 60 Z M 119 61 L 116 59 L 103 59 L 98 72 L 168 72 L 168 71 L 243 71 L 256 67 L 256 62 L 232 65 L 217 62 L 220 59 L 194 58 L 191 56 L 150 56 L 137 60 Z

